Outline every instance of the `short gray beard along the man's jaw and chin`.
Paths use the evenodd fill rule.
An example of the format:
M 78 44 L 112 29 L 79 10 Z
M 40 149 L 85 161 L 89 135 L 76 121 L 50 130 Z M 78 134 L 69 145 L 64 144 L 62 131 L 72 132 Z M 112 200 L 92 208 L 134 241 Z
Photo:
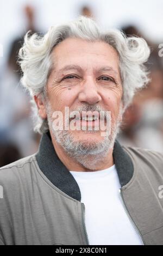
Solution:
M 91 106 L 90 106 L 91 108 Z M 83 111 L 96 111 L 97 108 L 92 109 L 83 109 Z M 111 132 L 106 134 L 101 142 L 87 142 L 87 141 L 76 141 L 75 136 L 73 135 L 73 131 L 66 130 L 54 130 L 52 127 L 52 109 L 48 106 L 48 125 L 51 129 L 53 136 L 57 143 L 61 145 L 64 149 L 65 153 L 72 157 L 74 161 L 82 164 L 83 167 L 87 169 L 95 170 L 97 167 L 97 163 L 102 162 L 105 157 L 108 155 L 109 150 L 114 147 L 115 139 L 117 133 L 119 131 L 120 122 L 116 122 L 111 127 Z M 103 109 L 100 109 L 103 110 Z M 97 133 L 99 131 L 96 130 L 86 130 L 83 131 L 85 133 Z

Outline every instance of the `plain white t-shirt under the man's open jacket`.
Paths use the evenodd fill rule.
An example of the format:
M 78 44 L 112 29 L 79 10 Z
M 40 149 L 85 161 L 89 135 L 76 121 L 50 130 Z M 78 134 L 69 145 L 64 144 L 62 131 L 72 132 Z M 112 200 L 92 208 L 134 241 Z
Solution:
M 120 181 L 114 166 L 95 172 L 72 172 L 85 205 L 90 245 L 141 245 L 120 200 Z

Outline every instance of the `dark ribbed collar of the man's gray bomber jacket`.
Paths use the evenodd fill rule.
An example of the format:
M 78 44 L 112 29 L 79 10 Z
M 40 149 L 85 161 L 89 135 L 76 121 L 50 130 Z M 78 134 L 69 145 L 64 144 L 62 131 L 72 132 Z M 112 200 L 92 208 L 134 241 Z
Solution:
M 133 162 L 118 141 L 114 144 L 113 157 L 120 184 L 124 186 L 133 176 Z M 36 160 L 43 174 L 45 174 L 53 185 L 68 196 L 78 201 L 81 200 L 79 186 L 73 175 L 60 161 L 51 142 L 49 132 L 44 133 L 41 137 L 39 151 L 36 153 Z

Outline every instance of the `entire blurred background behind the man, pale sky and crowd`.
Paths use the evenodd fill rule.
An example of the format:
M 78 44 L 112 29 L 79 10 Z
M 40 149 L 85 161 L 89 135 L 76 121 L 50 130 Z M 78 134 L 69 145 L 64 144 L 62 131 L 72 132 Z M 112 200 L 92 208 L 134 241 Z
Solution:
M 151 47 L 148 87 L 137 93 L 124 114 L 121 144 L 163 153 L 163 0 L 1 0 L 0 2 L 0 167 L 34 154 L 40 135 L 33 132 L 30 98 L 20 84 L 17 52 L 23 36 L 49 26 L 92 16 L 104 28 L 145 38 Z M 163 48 L 163 45 L 162 45 Z M 163 53 L 163 50 L 162 50 Z M 163 54 L 162 54 L 163 55 Z

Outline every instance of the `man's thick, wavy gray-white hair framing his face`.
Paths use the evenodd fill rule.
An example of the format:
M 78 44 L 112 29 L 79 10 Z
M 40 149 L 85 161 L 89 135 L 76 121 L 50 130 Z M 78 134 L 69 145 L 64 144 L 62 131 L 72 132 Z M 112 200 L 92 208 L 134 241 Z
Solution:
M 45 98 L 46 84 L 52 70 L 51 53 L 59 42 L 66 38 L 80 38 L 89 41 L 104 41 L 115 48 L 120 59 L 120 74 L 123 84 L 123 110 L 130 104 L 135 92 L 149 81 L 145 66 L 150 50 L 142 38 L 127 38 L 117 29 L 102 31 L 95 21 L 80 16 L 76 21 L 50 27 L 45 35 L 37 33 L 24 36 L 18 62 L 23 72 L 21 83 L 32 96 L 34 130 L 39 133 L 48 130 L 47 120 L 39 117 L 34 95 Z

